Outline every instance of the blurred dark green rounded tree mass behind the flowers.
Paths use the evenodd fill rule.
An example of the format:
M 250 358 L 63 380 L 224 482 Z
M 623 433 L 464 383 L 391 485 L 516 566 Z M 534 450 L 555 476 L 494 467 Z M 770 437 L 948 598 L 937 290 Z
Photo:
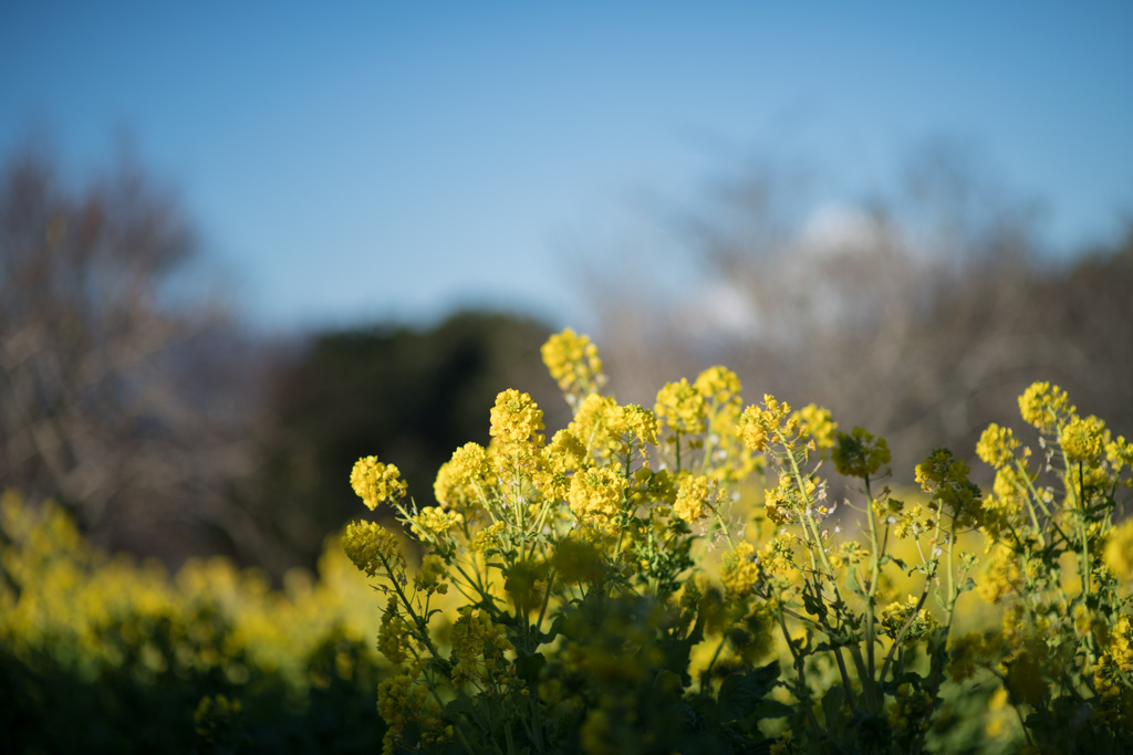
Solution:
M 368 455 L 401 470 L 418 506 L 433 505 L 437 469 L 468 441 L 487 445 L 488 410 L 506 388 L 530 393 L 548 426 L 564 426 L 566 405 L 539 355 L 548 333 L 530 319 L 465 312 L 429 331 L 317 335 L 271 381 L 262 469 L 247 491 L 261 526 L 292 563 L 310 565 L 323 539 L 357 517 L 349 474 Z

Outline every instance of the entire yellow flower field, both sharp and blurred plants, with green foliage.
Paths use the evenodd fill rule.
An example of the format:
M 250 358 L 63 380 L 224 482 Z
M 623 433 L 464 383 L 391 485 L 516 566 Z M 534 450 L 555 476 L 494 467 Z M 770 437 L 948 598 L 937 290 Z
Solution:
M 1133 749 L 1133 444 L 1057 386 L 983 434 L 990 490 L 945 448 L 898 489 L 884 438 L 746 401 L 726 368 L 642 407 L 603 394 L 586 336 L 543 357 L 568 427 L 502 392 L 492 441 L 455 449 L 433 507 L 359 460 L 363 504 L 402 526 L 348 525 L 282 592 L 221 560 L 111 558 L 7 494 L 0 744 Z

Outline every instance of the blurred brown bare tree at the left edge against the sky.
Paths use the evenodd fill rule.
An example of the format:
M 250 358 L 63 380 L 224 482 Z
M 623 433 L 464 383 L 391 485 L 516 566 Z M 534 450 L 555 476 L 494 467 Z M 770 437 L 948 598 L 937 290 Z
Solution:
M 177 288 L 195 250 L 128 158 L 80 190 L 35 147 L 0 171 L 0 484 L 173 558 L 207 529 L 254 538 L 224 504 L 248 465 L 240 402 L 218 391 L 232 331 Z

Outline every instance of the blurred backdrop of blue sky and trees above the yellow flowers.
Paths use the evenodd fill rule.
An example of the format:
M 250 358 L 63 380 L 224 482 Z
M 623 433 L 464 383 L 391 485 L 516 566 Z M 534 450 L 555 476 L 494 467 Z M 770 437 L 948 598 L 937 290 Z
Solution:
M 1133 7 L 5 3 L 0 487 L 276 581 L 538 346 L 723 363 L 894 477 L 1031 381 L 1133 435 Z

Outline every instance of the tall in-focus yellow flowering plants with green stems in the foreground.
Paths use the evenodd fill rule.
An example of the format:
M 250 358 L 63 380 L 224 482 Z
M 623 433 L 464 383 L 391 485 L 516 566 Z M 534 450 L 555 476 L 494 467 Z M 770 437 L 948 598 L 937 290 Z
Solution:
M 597 393 L 600 361 L 585 336 L 563 332 L 543 355 L 570 393 L 570 424 L 545 444 L 543 412 L 528 394 L 504 391 L 491 412 L 489 448 L 468 444 L 440 471 L 440 506 L 412 514 L 398 506 L 426 552 L 410 598 L 397 591 L 400 610 L 391 601 L 380 647 L 394 663 L 421 658 L 433 664 L 410 667 L 383 687 L 390 741 L 400 741 L 406 721 L 432 715 L 426 686 L 441 700 L 468 693 L 475 704 L 504 701 L 492 711 L 505 721 L 483 731 L 467 706 L 446 707 L 450 720 L 461 722 L 462 737 L 484 735 L 465 744 L 470 752 L 487 752 L 494 732 L 518 720 L 531 735 L 538 717 L 528 718 L 526 704 L 508 707 L 530 694 L 517 684 L 522 677 L 543 695 L 530 698 L 537 709 L 585 707 L 576 718 L 576 744 L 622 752 L 628 722 L 646 715 L 632 703 L 640 700 L 639 685 L 671 685 L 683 695 L 682 679 L 696 678 L 691 670 L 672 679 L 651 674 L 667 659 L 657 646 L 659 633 L 707 651 L 702 678 L 722 680 L 723 690 L 731 669 L 750 668 L 769 649 L 765 629 L 781 628 L 778 649 L 790 652 L 800 677 L 783 693 L 806 705 L 832 680 L 843 689 L 858 687 L 858 703 L 846 701 L 850 712 L 860 705 L 879 720 L 887 712 L 894 752 L 922 748 L 942 712 L 939 675 L 931 680 L 914 670 L 923 667 L 925 653 L 934 669 L 947 663 L 956 681 L 978 670 L 1003 678 L 1004 704 L 1054 701 L 1059 675 L 1070 672 L 1085 679 L 1093 674 L 1099 695 L 1114 686 L 1121 695 L 1122 685 L 1133 689 L 1125 676 L 1133 663 L 1130 619 L 1110 632 L 1111 619 L 1127 608 L 1126 582 L 1133 578 L 1133 523 L 1110 529 L 1116 471 L 1133 463 L 1133 446 L 1111 441 L 1100 420 L 1079 418 L 1059 388 L 1036 384 L 1020 400 L 1024 419 L 1045 436 L 1045 465 L 1032 471 L 1030 449 L 1011 429 L 993 424 L 977 445 L 979 457 L 996 470 L 993 498 L 985 501 L 968 464 L 942 448 L 915 469 L 928 499 L 910 491 L 906 506 L 889 487 L 871 484 L 888 474 L 886 440 L 860 427 L 838 431 L 830 412 L 815 404 L 795 411 L 765 395 L 760 405 L 743 407 L 739 378 L 713 367 L 692 383 L 666 384 L 649 411 Z M 1056 458 L 1051 439 L 1068 464 Z M 842 508 L 851 516 L 859 512 L 859 522 L 833 516 L 841 501 L 827 498 L 829 484 L 820 475 L 827 461 L 866 481 L 866 505 L 846 501 Z M 374 491 L 385 470 L 373 457 L 364 463 L 356 487 Z M 741 483 L 757 469 L 766 470 L 764 508 L 751 516 L 731 504 L 743 500 Z M 755 539 L 744 521 L 755 522 Z M 767 522 L 772 532 L 763 530 Z M 841 534 L 844 527 L 855 527 L 850 539 Z M 971 532 L 977 527 L 994 550 L 973 584 L 968 577 L 978 559 L 968 543 L 959 556 L 954 548 L 979 537 Z M 698 537 L 704 549 L 695 547 Z M 698 559 L 722 542 L 714 586 Z M 401 558 L 392 534 L 352 525 L 346 547 L 368 574 L 384 570 L 410 584 L 403 560 L 392 568 L 386 563 Z M 1102 556 L 1108 568 L 1098 564 Z M 1083 574 L 1085 585 L 1075 584 Z M 467 601 L 434 635 L 429 617 L 454 608 L 436 597 L 446 592 L 446 580 Z M 973 587 L 989 603 L 1002 603 L 991 609 L 1003 614 L 1000 626 L 954 638 L 938 663 L 957 601 Z M 906 592 L 912 594 L 904 598 Z M 600 616 L 583 620 L 578 609 L 595 602 L 589 595 L 602 599 Z M 527 626 L 516 624 L 525 617 Z M 512 641 L 518 658 L 510 655 Z M 1092 658 L 1101 655 L 1093 666 L 1090 642 L 1098 649 Z M 528 661 L 544 645 L 538 671 Z M 845 652 L 857 678 L 842 662 Z M 812 672 L 818 676 L 810 678 Z M 664 697 L 659 687 L 654 692 Z M 800 733 L 798 748 L 828 733 Z

